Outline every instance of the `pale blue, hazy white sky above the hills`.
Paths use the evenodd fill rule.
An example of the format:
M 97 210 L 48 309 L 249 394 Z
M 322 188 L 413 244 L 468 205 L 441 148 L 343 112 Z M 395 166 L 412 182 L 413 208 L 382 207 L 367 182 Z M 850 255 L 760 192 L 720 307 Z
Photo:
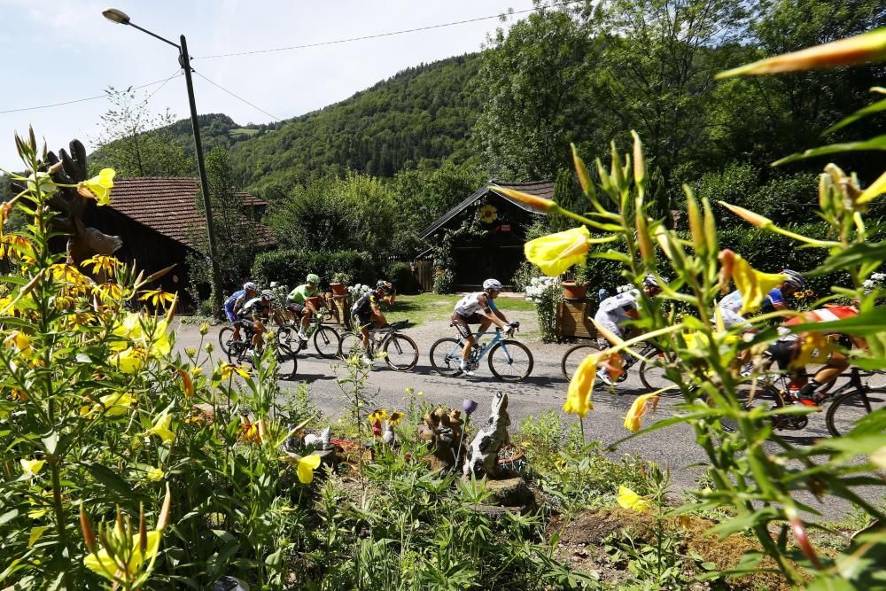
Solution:
M 106 4 L 113 2 L 117 4 Z M 246 124 L 289 119 L 350 97 L 409 66 L 478 51 L 496 27 L 507 28 L 526 13 L 505 23 L 484 19 L 349 43 L 209 56 L 378 35 L 509 9 L 526 11 L 532 0 L 0 0 L 0 55 L 5 56 L 0 77 L 6 81 L 0 95 L 0 168 L 21 168 L 12 134 L 25 136 L 28 125 L 50 150 L 58 151 L 73 138 L 91 150 L 100 116 L 110 107 L 102 97 L 106 88 L 126 89 L 181 73 L 174 47 L 106 20 L 101 12 L 109 6 L 175 43 L 185 35 L 194 70 L 260 108 L 195 75 L 198 113 L 226 113 Z M 168 108 L 177 119 L 190 116 L 181 75 L 140 92 L 152 94 L 153 113 Z M 87 97 L 100 98 L 30 109 Z

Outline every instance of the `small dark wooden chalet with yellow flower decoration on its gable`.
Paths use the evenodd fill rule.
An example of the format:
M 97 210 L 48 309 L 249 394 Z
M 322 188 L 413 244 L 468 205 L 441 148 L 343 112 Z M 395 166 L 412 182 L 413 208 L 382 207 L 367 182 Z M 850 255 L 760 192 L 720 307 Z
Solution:
M 524 191 L 544 198 L 554 195 L 554 183 L 494 183 L 490 181 L 465 198 L 421 234 L 431 245 L 439 244 L 447 231 L 459 229 L 464 222 L 476 219 L 481 231 L 459 233 L 453 241 L 456 291 L 476 290 L 488 277 L 509 286 L 520 261 L 523 261 L 525 230 L 532 218 L 545 213 L 501 195 L 494 185 Z M 419 281 L 425 291 L 433 288 L 433 273 L 428 272 L 433 247 L 417 257 Z M 424 271 L 424 272 L 423 272 Z M 429 278 L 430 276 L 430 278 Z M 512 287 L 512 286 L 511 286 Z

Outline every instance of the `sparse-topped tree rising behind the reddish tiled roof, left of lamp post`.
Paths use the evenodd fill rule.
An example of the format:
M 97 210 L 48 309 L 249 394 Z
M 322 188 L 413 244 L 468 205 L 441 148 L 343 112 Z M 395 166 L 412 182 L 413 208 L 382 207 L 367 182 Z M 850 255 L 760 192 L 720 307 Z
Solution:
M 193 159 L 167 126 L 175 122 L 169 113 L 151 113 L 148 98 L 139 97 L 132 87 L 105 90 L 113 105 L 104 115 L 98 148 L 91 158 L 94 169 L 112 167 L 120 176 L 183 176 L 195 169 Z

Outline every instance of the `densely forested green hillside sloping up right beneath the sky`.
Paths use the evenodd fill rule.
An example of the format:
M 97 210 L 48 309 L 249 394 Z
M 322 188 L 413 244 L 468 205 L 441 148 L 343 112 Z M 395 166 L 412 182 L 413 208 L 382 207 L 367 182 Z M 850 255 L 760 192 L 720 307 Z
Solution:
M 478 54 L 396 74 L 353 97 L 236 146 L 237 174 L 259 190 L 346 170 L 390 177 L 403 168 L 462 162 L 480 99 Z

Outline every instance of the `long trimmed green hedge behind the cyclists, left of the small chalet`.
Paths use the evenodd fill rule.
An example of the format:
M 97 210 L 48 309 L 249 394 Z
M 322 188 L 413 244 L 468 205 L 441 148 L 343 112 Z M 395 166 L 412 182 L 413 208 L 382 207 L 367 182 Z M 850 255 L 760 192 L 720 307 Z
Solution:
M 336 273 L 346 273 L 358 283 L 375 283 L 377 276 L 372 256 L 357 251 L 277 250 L 261 253 L 253 264 L 253 276 L 266 285 L 272 281 L 300 285 L 305 283 L 308 273 L 319 275 L 324 285 L 329 284 Z

